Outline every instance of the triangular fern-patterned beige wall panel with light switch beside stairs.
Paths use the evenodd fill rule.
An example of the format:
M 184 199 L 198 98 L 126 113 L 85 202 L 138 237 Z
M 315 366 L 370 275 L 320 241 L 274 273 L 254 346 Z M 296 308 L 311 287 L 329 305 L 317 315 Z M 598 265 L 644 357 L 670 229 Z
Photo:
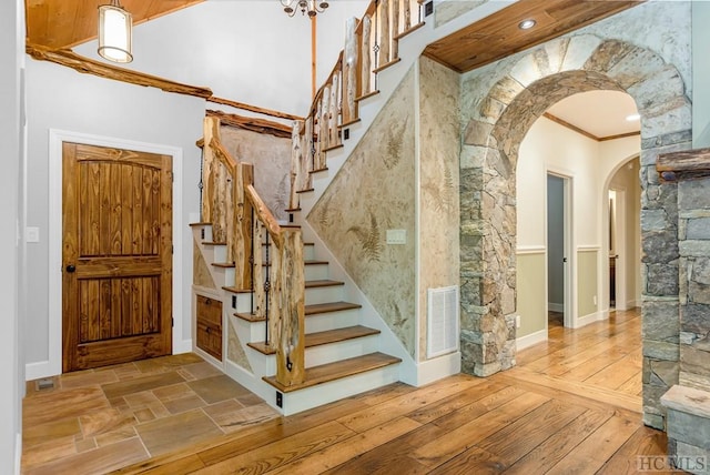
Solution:
M 307 216 L 415 354 L 415 93 L 409 71 Z M 405 244 L 387 244 L 404 230 Z

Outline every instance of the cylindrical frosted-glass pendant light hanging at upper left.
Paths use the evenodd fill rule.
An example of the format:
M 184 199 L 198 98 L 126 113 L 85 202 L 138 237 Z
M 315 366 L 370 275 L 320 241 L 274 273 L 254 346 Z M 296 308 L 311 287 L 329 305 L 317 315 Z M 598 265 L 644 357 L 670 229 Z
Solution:
M 113 62 L 133 61 L 133 18 L 119 0 L 99 7 L 99 54 Z

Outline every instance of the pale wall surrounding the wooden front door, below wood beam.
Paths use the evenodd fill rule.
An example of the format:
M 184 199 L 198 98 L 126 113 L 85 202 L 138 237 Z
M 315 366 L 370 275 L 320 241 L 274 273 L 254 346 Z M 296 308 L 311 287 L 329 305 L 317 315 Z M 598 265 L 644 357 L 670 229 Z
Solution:
M 190 338 L 192 234 L 187 224 L 190 213 L 199 212 L 197 182 L 200 151 L 195 141 L 202 137 L 204 101 L 181 94 L 171 94 L 153 88 L 143 88 L 110 81 L 50 62 L 28 60 L 28 225 L 40 230 L 40 242 L 28 244 L 28 275 L 31 294 L 28 302 L 27 363 L 37 377 L 49 361 L 49 319 L 61 315 L 50 309 L 49 280 L 57 279 L 60 269 L 49 269 L 48 242 L 50 175 L 48 138 L 50 129 L 101 135 L 134 142 L 182 149 L 182 232 L 175 244 L 182 257 L 182 285 L 173 289 L 182 297 L 183 338 Z M 176 203 L 175 203 L 176 205 Z M 57 216 L 53 216 L 57 218 Z M 54 247 L 55 249 L 55 247 Z M 178 271 L 178 270 L 175 270 Z M 53 316 L 52 316 L 53 317 Z M 186 342 L 185 344 L 189 344 Z M 187 348 L 190 350 L 190 348 Z

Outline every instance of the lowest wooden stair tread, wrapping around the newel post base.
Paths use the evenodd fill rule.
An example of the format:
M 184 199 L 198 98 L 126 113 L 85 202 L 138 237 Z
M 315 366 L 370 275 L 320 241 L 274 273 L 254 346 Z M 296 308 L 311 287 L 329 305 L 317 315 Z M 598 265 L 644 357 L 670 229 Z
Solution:
M 263 380 L 282 393 L 291 393 L 400 362 L 400 358 L 384 353 L 369 353 L 335 363 L 308 367 L 305 371 L 305 381 L 293 386 L 283 386 L 276 381 L 276 376 L 264 376 Z

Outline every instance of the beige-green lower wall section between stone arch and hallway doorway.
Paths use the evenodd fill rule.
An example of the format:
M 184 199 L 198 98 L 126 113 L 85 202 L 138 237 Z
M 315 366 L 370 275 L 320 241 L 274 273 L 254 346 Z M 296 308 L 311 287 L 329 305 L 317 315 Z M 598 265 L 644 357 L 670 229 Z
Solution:
M 516 337 L 527 336 L 545 330 L 547 323 L 547 292 L 545 271 L 547 260 L 545 251 L 517 254 L 516 290 L 517 311 L 520 327 Z

